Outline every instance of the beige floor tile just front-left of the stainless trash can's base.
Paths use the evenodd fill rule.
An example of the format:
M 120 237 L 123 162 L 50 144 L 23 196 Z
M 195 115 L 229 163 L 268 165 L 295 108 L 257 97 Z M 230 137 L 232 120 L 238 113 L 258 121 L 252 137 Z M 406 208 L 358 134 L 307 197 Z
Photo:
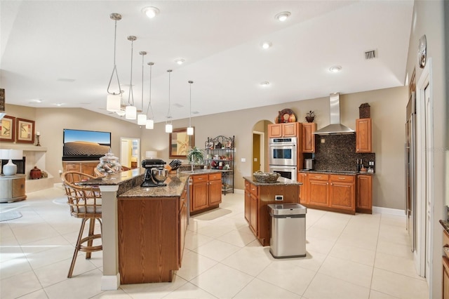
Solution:
M 229 255 L 225 260 L 222 260 L 221 263 L 255 277 L 272 261 L 263 251 L 241 248 L 236 253 Z

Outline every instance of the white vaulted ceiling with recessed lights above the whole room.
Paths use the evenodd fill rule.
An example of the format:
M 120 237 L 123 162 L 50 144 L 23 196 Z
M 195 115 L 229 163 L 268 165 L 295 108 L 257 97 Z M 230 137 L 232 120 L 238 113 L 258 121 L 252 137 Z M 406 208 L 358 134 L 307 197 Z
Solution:
M 142 8 L 154 6 L 149 19 Z M 285 22 L 275 15 L 290 12 Z M 123 103 L 149 102 L 154 121 L 402 86 L 413 1 L 0 1 L 1 82 L 6 103 L 106 107 L 116 69 Z M 133 97 L 129 97 L 131 42 Z M 272 46 L 263 49 L 263 41 Z M 142 85 L 142 55 L 144 79 Z M 366 59 L 366 51 L 376 57 Z M 175 60 L 185 62 L 177 65 Z M 330 67 L 341 66 L 340 72 Z M 269 85 L 261 85 L 267 81 Z M 116 81 L 112 81 L 112 86 Z M 151 116 L 151 112 L 149 112 Z M 135 122 L 135 121 L 133 121 Z

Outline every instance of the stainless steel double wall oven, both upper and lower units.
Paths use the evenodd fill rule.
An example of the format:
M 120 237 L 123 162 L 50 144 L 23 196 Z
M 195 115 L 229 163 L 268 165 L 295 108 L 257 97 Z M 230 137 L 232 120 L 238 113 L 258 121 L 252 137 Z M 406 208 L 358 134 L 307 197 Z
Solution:
M 297 138 L 269 138 L 269 171 L 297 180 Z

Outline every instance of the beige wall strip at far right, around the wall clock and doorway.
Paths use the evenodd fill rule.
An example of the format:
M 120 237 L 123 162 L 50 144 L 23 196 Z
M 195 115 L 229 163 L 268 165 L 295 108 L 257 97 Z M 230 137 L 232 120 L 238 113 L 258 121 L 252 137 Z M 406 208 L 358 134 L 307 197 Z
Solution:
M 444 6 L 446 2 L 446 6 Z M 449 61 L 445 60 L 448 50 L 448 32 L 445 32 L 445 18 L 449 18 L 449 4 L 447 1 L 415 1 L 413 8 L 413 25 L 408 48 L 407 72 L 409 77 L 416 69 L 416 81 L 420 80 L 422 69 L 417 66 L 417 45 L 420 37 L 427 37 L 427 58 L 431 59 L 432 98 L 433 98 L 433 128 L 434 145 L 434 206 L 431 214 L 434 217 L 430 240 L 434 246 L 431 270 L 431 296 L 441 298 L 441 225 L 438 220 L 445 219 L 444 205 L 449 204 L 449 122 L 448 122 L 448 77 L 445 72 L 449 68 Z M 449 20 L 446 20 L 448 26 Z M 420 201 L 420 198 L 417 199 Z

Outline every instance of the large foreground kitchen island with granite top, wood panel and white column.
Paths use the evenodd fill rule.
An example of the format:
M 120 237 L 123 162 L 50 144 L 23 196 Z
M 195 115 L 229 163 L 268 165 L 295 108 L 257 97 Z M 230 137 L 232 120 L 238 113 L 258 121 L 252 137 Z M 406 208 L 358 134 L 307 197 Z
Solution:
M 189 174 L 168 175 L 164 187 L 140 187 L 144 173 L 138 168 L 80 182 L 102 192 L 102 290 L 171 281 L 182 263 Z

